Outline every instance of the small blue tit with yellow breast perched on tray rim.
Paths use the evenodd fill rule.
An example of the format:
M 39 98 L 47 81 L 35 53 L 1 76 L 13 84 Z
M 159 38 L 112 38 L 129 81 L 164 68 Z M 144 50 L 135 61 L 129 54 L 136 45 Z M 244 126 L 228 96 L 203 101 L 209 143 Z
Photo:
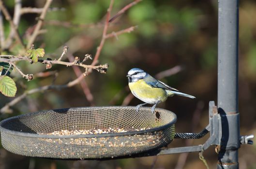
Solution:
M 179 95 L 195 99 L 194 96 L 179 92 L 179 90 L 168 86 L 167 84 L 156 80 L 149 73 L 139 68 L 133 68 L 128 71 L 129 87 L 133 95 L 145 103 L 136 106 L 136 111 L 145 104 L 153 104 L 151 112 L 153 113 L 158 103 L 166 101 L 169 96 Z

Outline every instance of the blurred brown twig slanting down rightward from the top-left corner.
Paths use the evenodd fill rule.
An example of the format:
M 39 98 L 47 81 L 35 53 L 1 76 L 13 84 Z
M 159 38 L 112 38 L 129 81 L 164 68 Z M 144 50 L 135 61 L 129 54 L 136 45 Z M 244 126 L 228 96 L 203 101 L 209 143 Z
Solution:
M 17 27 L 15 26 L 15 24 L 14 24 L 14 22 L 13 22 L 11 16 L 10 16 L 10 14 L 9 14 L 9 12 L 8 12 L 7 9 L 5 8 L 5 6 L 3 5 L 2 0 L 0 0 L 0 9 L 1 9 L 2 13 L 3 13 L 4 16 L 5 16 L 5 19 L 10 23 L 11 28 L 12 28 L 12 29 L 14 30 L 14 32 L 15 32 L 15 39 L 16 39 L 17 42 L 19 42 L 19 43 L 22 45 L 22 47 L 25 49 L 25 46 L 24 46 L 24 44 L 23 44 L 23 42 L 22 42 L 22 40 L 21 40 L 21 37 L 20 37 L 20 35 L 19 35 L 18 29 L 17 29 Z

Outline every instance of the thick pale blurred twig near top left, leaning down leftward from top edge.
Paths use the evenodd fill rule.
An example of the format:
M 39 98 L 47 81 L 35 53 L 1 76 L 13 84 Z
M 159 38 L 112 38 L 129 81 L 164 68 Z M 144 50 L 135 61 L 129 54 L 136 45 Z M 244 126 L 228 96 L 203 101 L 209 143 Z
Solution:
M 13 22 L 15 27 L 17 28 L 20 21 L 20 10 L 21 10 L 21 0 L 15 0 L 15 7 L 14 7 L 14 18 Z M 15 36 L 15 29 L 12 28 L 11 32 L 9 33 L 9 36 L 5 42 L 5 49 L 9 49 L 9 47 L 12 45 L 13 38 Z

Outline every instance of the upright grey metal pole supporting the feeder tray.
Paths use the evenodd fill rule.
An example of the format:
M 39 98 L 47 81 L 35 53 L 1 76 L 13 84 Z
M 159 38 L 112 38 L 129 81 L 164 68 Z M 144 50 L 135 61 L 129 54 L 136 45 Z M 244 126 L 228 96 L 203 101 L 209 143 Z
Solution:
M 217 169 L 239 168 L 238 7 L 239 0 L 219 0 L 218 112 L 221 114 L 222 138 Z

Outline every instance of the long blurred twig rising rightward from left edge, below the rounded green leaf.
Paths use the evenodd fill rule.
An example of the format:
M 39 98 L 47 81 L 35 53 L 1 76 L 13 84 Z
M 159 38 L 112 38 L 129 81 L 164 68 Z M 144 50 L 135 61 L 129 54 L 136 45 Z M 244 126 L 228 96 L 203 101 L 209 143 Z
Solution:
M 30 94 L 37 93 L 37 92 L 43 92 L 43 91 L 49 90 L 49 89 L 59 89 L 60 90 L 62 88 L 72 87 L 75 84 L 78 84 L 83 78 L 84 78 L 84 75 L 81 74 L 78 78 L 76 78 L 75 80 L 73 80 L 73 81 L 71 81 L 67 84 L 45 85 L 45 86 L 42 86 L 42 87 L 38 87 L 38 88 L 28 90 L 28 91 L 24 92 L 22 95 L 16 97 L 12 101 L 10 101 L 9 103 L 5 104 L 5 106 L 3 106 L 0 109 L 0 113 L 12 113 L 12 110 L 10 110 L 10 107 L 14 106 L 16 103 L 18 103 L 20 100 L 24 99 L 26 96 L 28 96 Z

